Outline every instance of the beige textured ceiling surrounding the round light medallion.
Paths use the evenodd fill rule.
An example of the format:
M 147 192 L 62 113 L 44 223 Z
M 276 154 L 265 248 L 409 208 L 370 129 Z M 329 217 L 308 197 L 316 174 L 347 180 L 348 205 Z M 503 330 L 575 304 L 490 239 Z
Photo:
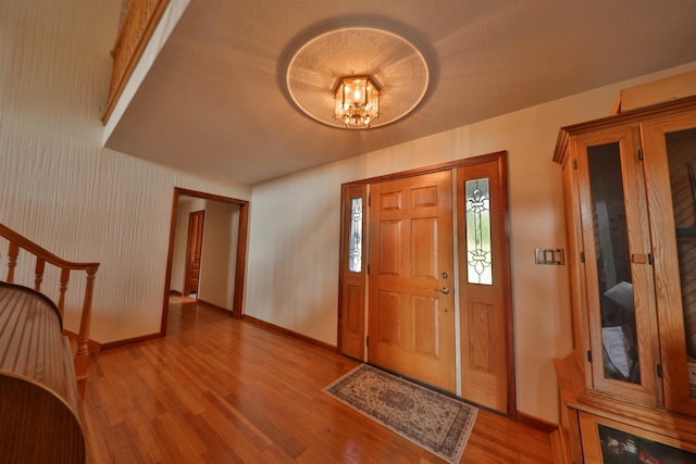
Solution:
M 407 117 L 345 130 L 297 110 L 285 66 L 358 24 L 408 37 L 431 75 Z M 191 0 L 107 147 L 256 184 L 696 61 L 695 24 L 693 0 Z

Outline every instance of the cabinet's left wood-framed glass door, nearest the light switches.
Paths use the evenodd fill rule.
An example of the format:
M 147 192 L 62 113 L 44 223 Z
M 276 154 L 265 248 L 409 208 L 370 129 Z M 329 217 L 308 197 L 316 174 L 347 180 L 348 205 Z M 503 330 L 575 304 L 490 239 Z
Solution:
M 575 139 L 593 388 L 656 404 L 657 321 L 637 126 Z

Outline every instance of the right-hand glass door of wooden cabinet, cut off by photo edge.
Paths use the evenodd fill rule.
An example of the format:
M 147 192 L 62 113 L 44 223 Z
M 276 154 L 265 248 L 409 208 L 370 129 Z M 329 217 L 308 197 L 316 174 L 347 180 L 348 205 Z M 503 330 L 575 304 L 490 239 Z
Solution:
M 696 112 L 644 123 L 666 407 L 696 414 Z

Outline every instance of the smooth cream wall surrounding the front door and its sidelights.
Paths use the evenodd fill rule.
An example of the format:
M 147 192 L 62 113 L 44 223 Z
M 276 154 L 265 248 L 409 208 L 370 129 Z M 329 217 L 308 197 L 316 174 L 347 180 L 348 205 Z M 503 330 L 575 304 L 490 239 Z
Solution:
M 551 161 L 558 129 L 609 115 L 621 88 L 691 68 L 696 63 L 254 186 L 247 314 L 336 344 L 340 184 L 507 150 L 518 407 L 557 421 L 552 360 L 572 348 L 568 269 L 535 265 L 533 251 L 567 248 Z

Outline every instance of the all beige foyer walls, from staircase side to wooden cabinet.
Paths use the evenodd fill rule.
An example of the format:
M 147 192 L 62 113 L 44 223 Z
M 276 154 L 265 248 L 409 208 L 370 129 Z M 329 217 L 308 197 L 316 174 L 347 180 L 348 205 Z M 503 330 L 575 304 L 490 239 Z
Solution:
M 0 222 L 71 260 L 100 261 L 92 338 L 159 330 L 174 187 L 252 200 L 246 311 L 336 342 L 340 184 L 508 150 L 518 403 L 557 416 L 551 360 L 570 350 L 568 269 L 535 266 L 566 248 L 559 126 L 607 115 L 597 89 L 251 188 L 101 147 L 99 122 L 120 2 L 0 2 Z M 696 68 L 696 64 L 676 71 Z M 675 73 L 671 71 L 664 74 Z M 0 248 L 0 253 L 4 253 Z M 66 327 L 75 329 L 69 313 Z

